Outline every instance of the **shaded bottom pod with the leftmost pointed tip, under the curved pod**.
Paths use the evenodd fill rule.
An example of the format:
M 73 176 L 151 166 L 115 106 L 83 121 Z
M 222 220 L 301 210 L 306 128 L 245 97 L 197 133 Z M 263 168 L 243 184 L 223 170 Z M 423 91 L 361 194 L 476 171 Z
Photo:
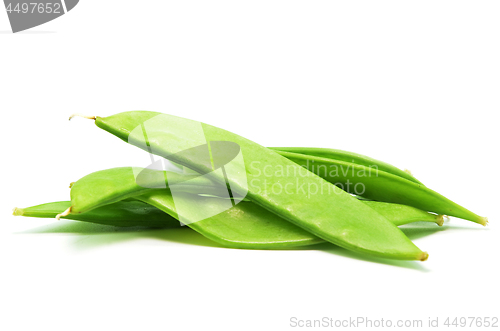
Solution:
M 71 206 L 71 201 L 44 203 L 27 208 L 14 208 L 14 215 L 53 218 Z M 158 208 L 141 201 L 118 201 L 86 213 L 70 214 L 67 218 L 114 226 L 178 227 L 179 221 Z

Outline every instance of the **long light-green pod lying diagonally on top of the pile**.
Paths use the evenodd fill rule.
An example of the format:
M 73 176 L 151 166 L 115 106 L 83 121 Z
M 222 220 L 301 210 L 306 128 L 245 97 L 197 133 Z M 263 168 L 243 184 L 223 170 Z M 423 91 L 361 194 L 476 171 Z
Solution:
M 236 134 L 197 121 L 146 111 L 89 118 L 128 143 L 226 183 L 232 195 L 247 196 L 324 240 L 387 258 L 425 260 L 428 257 L 394 224 L 356 198 L 310 172 L 297 176 L 303 171 L 302 167 Z M 240 152 L 241 163 L 231 164 L 229 177 L 224 167 L 215 166 L 223 164 L 219 154 L 221 159 L 227 158 L 224 154 L 227 144 L 218 142 L 231 142 Z M 196 146 L 206 146 L 205 154 L 209 157 L 201 159 L 198 153 L 191 153 Z M 269 167 L 274 171 L 286 169 L 286 173 L 264 176 L 263 172 Z M 289 190 L 277 193 L 273 190 L 276 185 Z M 321 187 L 321 194 L 317 191 L 311 194 L 311 187 Z M 323 194 L 323 188 L 328 194 Z

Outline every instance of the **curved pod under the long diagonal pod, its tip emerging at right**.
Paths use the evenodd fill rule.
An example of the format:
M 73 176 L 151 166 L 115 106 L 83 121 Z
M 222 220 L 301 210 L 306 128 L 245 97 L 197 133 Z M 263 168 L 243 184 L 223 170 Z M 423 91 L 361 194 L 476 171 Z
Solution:
M 192 212 L 183 216 L 183 220 L 188 221 L 187 225 L 203 236 L 226 247 L 274 249 L 324 242 L 312 233 L 252 202 L 240 202 L 212 217 L 191 222 L 191 220 L 199 219 L 200 215 L 220 210 L 220 207 L 223 207 L 222 200 L 215 197 L 193 198 L 192 194 L 189 193 L 176 194 L 175 199 L 173 199 L 168 190 L 145 193 L 136 196 L 135 199 L 151 204 L 177 219 L 179 219 L 179 215 L 175 205 L 179 203 L 179 200 L 183 200 L 183 204 L 189 204 L 192 207 Z M 387 219 L 395 225 L 417 221 L 442 224 L 442 216 L 429 214 L 416 208 L 401 205 L 390 206 L 391 204 L 372 203 L 371 201 L 364 203 L 369 203 L 382 215 L 387 214 Z

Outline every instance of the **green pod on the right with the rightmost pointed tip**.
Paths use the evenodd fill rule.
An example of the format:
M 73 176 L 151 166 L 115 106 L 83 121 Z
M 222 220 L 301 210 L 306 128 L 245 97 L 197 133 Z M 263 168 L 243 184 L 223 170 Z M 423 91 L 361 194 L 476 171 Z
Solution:
M 486 225 L 488 222 L 486 217 L 481 217 L 471 212 L 422 184 L 409 181 L 385 171 L 378 170 L 373 172 L 373 170 L 363 165 L 346 163 L 331 158 L 283 151 L 277 152 L 289 160 L 306 167 L 310 171 L 321 175 L 327 181 L 341 184 L 346 191 L 371 200 L 413 206 L 437 214 L 463 218 L 481 225 Z M 350 167 L 349 169 L 352 169 L 352 171 L 331 171 L 331 169 L 342 167 Z M 347 185 L 348 181 L 352 186 Z M 356 189 L 356 185 L 358 184 L 362 186 L 363 192 L 360 192 L 361 188 L 359 190 Z

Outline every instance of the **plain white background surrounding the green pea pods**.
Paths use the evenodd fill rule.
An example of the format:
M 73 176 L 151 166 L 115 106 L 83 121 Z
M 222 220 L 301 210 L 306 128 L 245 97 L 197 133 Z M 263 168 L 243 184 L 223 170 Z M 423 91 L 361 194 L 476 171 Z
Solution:
M 0 10 L 0 329 L 500 317 L 499 16 L 497 1 L 82 0 L 12 34 Z M 490 225 L 405 230 L 430 257 L 402 262 L 326 244 L 245 251 L 189 229 L 11 216 L 67 200 L 68 184 L 90 172 L 148 164 L 91 121 L 67 120 L 138 109 L 265 146 L 366 154 L 412 170 Z

